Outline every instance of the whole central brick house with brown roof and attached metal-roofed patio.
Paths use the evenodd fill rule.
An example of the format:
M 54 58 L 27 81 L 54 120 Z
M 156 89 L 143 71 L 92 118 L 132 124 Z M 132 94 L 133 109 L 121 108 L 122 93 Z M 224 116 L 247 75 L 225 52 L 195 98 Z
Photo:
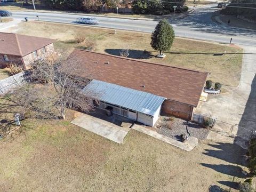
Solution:
M 84 91 L 98 101 L 97 107 L 111 106 L 113 113 L 150 126 L 160 113 L 191 120 L 207 77 L 195 70 L 84 50 L 74 50 L 69 62 L 93 74 Z

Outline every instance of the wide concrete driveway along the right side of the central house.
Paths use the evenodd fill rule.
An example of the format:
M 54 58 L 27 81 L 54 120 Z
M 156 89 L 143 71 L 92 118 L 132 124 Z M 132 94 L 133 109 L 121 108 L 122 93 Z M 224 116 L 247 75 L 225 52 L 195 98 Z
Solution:
M 217 117 L 219 121 L 214 128 L 222 133 L 232 131 L 231 135 L 240 137 L 235 140 L 233 137 L 234 142 L 244 148 L 245 141 L 241 137 L 249 138 L 251 131 L 256 130 L 256 47 L 243 46 L 243 49 L 239 85 L 227 94 L 213 95 L 206 102 L 201 102 L 196 113 Z M 209 134 L 209 139 L 220 138 L 223 137 L 218 132 Z

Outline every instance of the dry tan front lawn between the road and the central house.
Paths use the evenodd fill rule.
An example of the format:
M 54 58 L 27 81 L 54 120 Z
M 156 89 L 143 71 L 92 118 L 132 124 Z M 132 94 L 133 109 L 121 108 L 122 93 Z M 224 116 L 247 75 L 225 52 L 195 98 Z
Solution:
M 33 30 L 32 30 L 33 29 Z M 192 39 L 176 38 L 165 59 L 157 59 L 150 47 L 150 34 L 130 31 L 80 27 L 45 22 L 22 22 L 17 33 L 49 37 L 57 39 L 55 48 L 59 52 L 70 53 L 74 47 L 85 49 L 85 43 L 76 44 L 74 35 L 84 34 L 97 45 L 95 51 L 119 55 L 120 49 L 130 49 L 129 57 L 145 59 L 164 65 L 185 67 L 210 72 L 209 79 L 224 85 L 237 86 L 241 75 L 242 52 L 239 47 L 231 47 L 217 43 L 195 41 Z M 223 54 L 224 52 L 227 54 Z

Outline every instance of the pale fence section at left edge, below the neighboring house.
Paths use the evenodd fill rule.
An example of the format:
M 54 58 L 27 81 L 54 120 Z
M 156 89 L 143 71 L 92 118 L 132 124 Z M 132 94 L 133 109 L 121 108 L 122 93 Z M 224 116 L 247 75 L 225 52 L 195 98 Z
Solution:
M 11 77 L 0 80 L 0 95 L 11 91 L 19 85 L 22 85 L 26 82 L 25 79 L 25 72 L 21 72 Z

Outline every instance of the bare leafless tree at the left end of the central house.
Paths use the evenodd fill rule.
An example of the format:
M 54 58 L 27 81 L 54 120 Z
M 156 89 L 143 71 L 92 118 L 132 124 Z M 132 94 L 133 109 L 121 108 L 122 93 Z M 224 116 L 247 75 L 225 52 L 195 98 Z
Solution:
M 76 74 L 84 74 L 79 77 Z M 86 77 L 87 74 L 87 77 Z M 65 119 L 68 108 L 89 111 L 93 107 L 92 99 L 82 91 L 90 82 L 91 77 L 85 68 L 70 65 L 67 60 L 46 61 L 41 60 L 33 64 L 31 81 L 43 83 L 52 94 L 46 99 L 52 101 L 59 115 Z

